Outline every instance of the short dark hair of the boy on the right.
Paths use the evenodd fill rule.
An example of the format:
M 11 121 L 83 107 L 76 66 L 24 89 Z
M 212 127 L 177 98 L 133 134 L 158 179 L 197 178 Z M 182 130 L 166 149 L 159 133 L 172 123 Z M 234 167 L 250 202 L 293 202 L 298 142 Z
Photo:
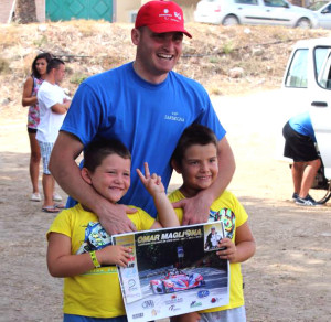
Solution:
M 193 124 L 188 127 L 180 137 L 177 147 L 172 153 L 171 160 L 181 165 L 185 151 L 194 146 L 214 144 L 217 149 L 217 138 L 215 133 L 207 127 Z

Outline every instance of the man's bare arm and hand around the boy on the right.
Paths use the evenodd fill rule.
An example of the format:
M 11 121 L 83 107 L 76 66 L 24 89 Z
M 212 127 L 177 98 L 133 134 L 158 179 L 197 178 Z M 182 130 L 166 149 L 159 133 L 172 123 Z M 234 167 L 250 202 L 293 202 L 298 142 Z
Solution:
M 224 137 L 218 141 L 218 175 L 216 181 L 206 190 L 202 190 L 194 197 L 185 198 L 173 204 L 173 207 L 183 208 L 182 225 L 205 223 L 210 208 L 229 184 L 235 172 L 235 159 L 232 149 Z

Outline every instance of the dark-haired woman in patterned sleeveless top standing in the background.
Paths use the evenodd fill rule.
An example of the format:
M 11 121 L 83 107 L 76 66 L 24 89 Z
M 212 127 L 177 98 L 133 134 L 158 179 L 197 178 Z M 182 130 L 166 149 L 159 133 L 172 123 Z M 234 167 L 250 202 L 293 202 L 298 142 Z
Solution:
M 41 53 L 35 56 L 32 62 L 31 66 L 31 75 L 26 78 L 23 87 L 23 95 L 22 95 L 22 106 L 29 106 L 28 112 L 28 133 L 30 140 L 30 178 L 32 183 L 32 194 L 30 200 L 40 202 L 41 195 L 39 192 L 39 165 L 40 165 L 40 147 L 35 139 L 36 135 L 36 127 L 40 121 L 39 115 L 39 104 L 38 104 L 38 89 L 44 82 L 46 77 L 46 68 L 49 62 L 52 60 L 52 54 L 50 53 Z M 62 197 L 58 193 L 54 193 L 53 195 L 54 201 L 62 201 Z

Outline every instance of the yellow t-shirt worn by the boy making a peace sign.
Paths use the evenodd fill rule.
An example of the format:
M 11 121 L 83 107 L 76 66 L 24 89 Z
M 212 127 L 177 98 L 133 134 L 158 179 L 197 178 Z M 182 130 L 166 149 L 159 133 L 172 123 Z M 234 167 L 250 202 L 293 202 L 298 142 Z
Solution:
M 135 207 L 137 208 L 137 207 Z M 145 211 L 128 215 L 137 230 L 148 230 L 154 218 Z M 49 233 L 58 233 L 72 239 L 72 254 L 98 249 L 110 236 L 102 228 L 95 214 L 81 204 L 61 212 Z M 86 273 L 64 278 L 63 312 L 93 318 L 126 315 L 116 266 L 95 268 Z

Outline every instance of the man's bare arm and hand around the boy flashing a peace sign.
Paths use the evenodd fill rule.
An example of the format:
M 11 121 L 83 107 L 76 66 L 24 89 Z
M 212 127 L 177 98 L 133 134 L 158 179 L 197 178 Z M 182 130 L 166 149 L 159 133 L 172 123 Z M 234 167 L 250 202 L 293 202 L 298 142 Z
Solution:
M 56 182 L 68 195 L 94 212 L 109 234 L 135 232 L 135 225 L 126 213 L 136 211 L 108 202 L 82 179 L 75 160 L 83 148 L 83 143 L 75 136 L 60 132 L 49 165 Z

